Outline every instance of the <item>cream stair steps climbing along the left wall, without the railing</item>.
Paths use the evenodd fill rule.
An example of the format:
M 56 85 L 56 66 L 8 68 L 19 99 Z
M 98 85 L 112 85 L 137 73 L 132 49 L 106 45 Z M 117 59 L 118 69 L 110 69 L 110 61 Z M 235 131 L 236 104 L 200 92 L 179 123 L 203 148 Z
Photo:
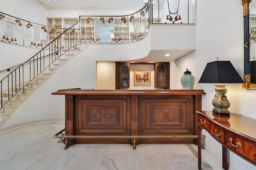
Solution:
M 44 82 L 48 80 L 61 66 L 65 63 L 70 61 L 76 55 L 81 53 L 90 45 L 88 44 L 81 44 L 79 45 L 78 49 L 72 49 L 67 51 L 64 55 L 59 57 L 56 61 L 54 61 L 50 67 L 46 68 L 42 74 L 37 76 L 34 80 L 28 83 L 24 87 L 23 90 L 20 90 L 17 94 L 13 94 L 14 96 L 8 101 L 8 95 L 12 95 L 12 92 L 4 92 L 3 94 L 3 102 L 7 102 L 1 109 L 0 109 L 0 131 L 4 131 L 6 129 L 2 129 L 4 123 L 8 120 L 8 118 L 16 111 L 16 109 L 22 105 L 22 103 L 32 94 L 34 93 Z M 1 103 L 0 98 L 0 103 Z

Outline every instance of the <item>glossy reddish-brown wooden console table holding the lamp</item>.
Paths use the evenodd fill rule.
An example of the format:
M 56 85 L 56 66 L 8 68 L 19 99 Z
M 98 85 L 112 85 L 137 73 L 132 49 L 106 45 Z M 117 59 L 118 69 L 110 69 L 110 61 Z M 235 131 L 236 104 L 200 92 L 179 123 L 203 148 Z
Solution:
M 202 129 L 222 144 L 222 168 L 228 170 L 228 150 L 256 165 L 256 119 L 230 113 L 218 115 L 212 111 L 198 113 L 198 169 L 201 169 Z

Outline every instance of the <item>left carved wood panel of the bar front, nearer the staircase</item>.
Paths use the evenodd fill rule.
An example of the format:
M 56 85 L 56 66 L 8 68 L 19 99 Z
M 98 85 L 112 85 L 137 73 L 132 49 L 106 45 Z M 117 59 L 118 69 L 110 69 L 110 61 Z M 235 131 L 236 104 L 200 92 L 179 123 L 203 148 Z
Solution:
M 74 135 L 131 135 L 130 96 L 74 96 Z M 130 139 L 74 139 L 74 143 L 130 143 Z

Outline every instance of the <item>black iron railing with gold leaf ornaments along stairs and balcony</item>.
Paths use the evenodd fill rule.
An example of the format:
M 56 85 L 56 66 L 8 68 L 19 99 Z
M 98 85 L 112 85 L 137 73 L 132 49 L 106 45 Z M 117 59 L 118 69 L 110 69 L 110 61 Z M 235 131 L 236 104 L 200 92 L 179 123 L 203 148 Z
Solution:
M 148 27 L 150 24 L 150 20 L 146 19 L 144 17 L 144 11 L 149 11 L 150 5 L 149 3 L 146 3 L 146 5 L 139 10 L 138 12 L 135 12 L 134 14 L 124 15 L 124 16 L 79 16 L 79 20 L 74 23 L 72 26 L 70 26 L 68 29 L 64 28 L 54 28 L 49 27 L 46 25 L 40 25 L 36 23 L 32 23 L 26 20 L 21 20 L 19 18 L 16 18 L 15 22 L 18 25 L 25 25 L 26 28 L 30 28 L 33 25 L 40 25 L 40 28 L 42 29 L 42 32 L 50 34 L 54 34 L 56 37 L 50 41 L 47 45 L 42 45 L 40 43 L 41 38 L 41 30 L 38 29 L 38 26 L 33 30 L 33 39 L 35 39 L 35 35 L 38 35 L 38 38 L 35 39 L 38 44 L 31 42 L 30 45 L 24 45 L 24 42 L 28 41 L 23 39 L 23 44 L 17 43 L 17 38 L 15 38 L 15 33 L 12 34 L 12 40 L 8 38 L 8 35 L 3 36 L 2 42 L 10 43 L 10 44 L 16 44 L 16 45 L 22 45 L 22 46 L 30 46 L 30 47 L 36 47 L 36 48 L 42 48 L 38 53 L 36 53 L 34 56 L 32 56 L 30 59 L 25 61 L 22 64 L 17 65 L 12 71 L 10 71 L 10 68 L 6 69 L 7 71 L 10 71 L 2 80 L 0 80 L 0 113 L 4 112 L 4 106 L 6 106 L 8 103 L 10 103 L 10 100 L 14 98 L 18 93 L 24 94 L 26 87 L 29 87 L 32 82 L 38 78 L 40 75 L 42 75 L 44 72 L 46 72 L 46 69 L 50 69 L 52 67 L 52 64 L 57 60 L 60 59 L 60 57 L 64 54 L 66 54 L 69 51 L 72 51 L 72 49 L 80 49 L 80 45 L 83 43 L 90 43 L 90 44 L 97 44 L 97 43 L 130 43 L 134 41 L 138 41 L 146 37 L 148 33 Z M 136 14 L 140 14 L 142 17 L 144 17 L 144 27 L 140 28 L 140 34 L 143 32 L 143 35 L 136 36 L 136 39 L 134 38 L 134 33 L 137 32 L 138 29 L 132 30 L 134 33 L 131 33 L 131 30 L 127 29 L 127 24 L 130 22 L 130 24 L 134 23 L 132 22 Z M 4 20 L 5 16 L 7 14 L 0 12 L 0 20 Z M 150 14 L 148 14 L 150 16 Z M 12 17 L 15 18 L 15 17 Z M 114 37 L 111 37 L 111 31 L 114 33 L 114 18 L 120 18 L 123 25 L 126 24 L 123 28 L 120 28 L 120 35 L 119 39 L 115 39 Z M 112 20 L 113 19 L 113 20 Z M 97 27 L 93 27 L 92 25 L 95 25 L 93 22 L 94 20 L 100 21 L 100 23 L 97 23 Z M 106 24 L 106 25 L 104 25 Z M 107 25 L 108 24 L 108 25 Z M 16 25 L 17 26 L 17 25 Z M 25 27 L 25 26 L 24 26 Z M 88 28 L 89 27 L 89 28 Z M 134 27 L 134 25 L 130 26 Z M 52 29 L 51 29 L 52 28 Z M 98 29 L 98 30 L 94 30 Z M 12 30 L 11 30 L 12 31 Z M 15 31 L 15 30 L 13 30 Z M 17 31 L 17 28 L 16 28 Z M 106 35 L 103 33 L 105 32 Z M 96 37 L 96 33 L 98 33 Z M 108 37 L 109 33 L 109 37 Z M 24 33 L 23 33 L 24 34 Z M 25 33 L 26 34 L 26 33 Z M 22 42 L 22 41 L 21 41 Z M 38 48 L 38 49 L 39 49 Z M 4 71 L 6 71 L 4 70 Z M 3 71 L 3 70 L 2 70 Z M 2 72 L 0 71 L 0 73 Z

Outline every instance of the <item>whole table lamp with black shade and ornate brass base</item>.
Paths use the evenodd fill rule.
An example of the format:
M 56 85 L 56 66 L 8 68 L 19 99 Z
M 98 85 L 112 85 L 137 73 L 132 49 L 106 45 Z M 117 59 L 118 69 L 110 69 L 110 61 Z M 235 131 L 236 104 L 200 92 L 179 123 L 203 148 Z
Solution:
M 220 115 L 229 115 L 230 111 L 228 111 L 228 107 L 230 107 L 230 102 L 226 96 L 226 84 L 223 83 L 243 82 L 244 81 L 230 61 L 213 61 L 206 64 L 198 83 L 216 83 L 216 94 L 212 100 L 212 105 L 214 106 L 213 112 Z

